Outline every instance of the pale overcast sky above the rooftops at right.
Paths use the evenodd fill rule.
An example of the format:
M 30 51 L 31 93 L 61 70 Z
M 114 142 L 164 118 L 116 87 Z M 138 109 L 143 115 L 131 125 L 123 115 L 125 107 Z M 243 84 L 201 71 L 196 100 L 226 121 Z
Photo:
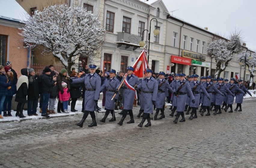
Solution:
M 236 29 L 242 31 L 243 41 L 256 50 L 255 0 L 162 0 L 173 16 L 208 31 L 229 37 Z M 178 9 L 178 10 L 177 10 Z

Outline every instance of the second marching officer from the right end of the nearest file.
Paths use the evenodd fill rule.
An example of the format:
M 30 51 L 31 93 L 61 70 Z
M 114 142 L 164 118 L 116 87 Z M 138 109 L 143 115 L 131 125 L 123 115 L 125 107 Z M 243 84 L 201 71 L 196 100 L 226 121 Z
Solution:
M 227 88 L 232 92 L 232 94 L 227 94 L 227 107 L 224 109 L 225 112 L 227 112 L 227 109 L 230 107 L 229 113 L 233 113 L 232 104 L 234 102 L 235 93 L 242 93 L 243 95 L 245 94 L 244 91 L 236 86 L 236 84 L 234 83 L 235 81 L 236 79 L 231 78 L 230 83 L 227 85 Z

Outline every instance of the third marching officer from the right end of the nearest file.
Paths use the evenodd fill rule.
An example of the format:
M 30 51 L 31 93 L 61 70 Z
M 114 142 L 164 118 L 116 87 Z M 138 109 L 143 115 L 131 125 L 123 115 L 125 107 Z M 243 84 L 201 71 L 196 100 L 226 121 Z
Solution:
M 218 79 L 218 83 L 215 85 L 215 87 L 222 93 L 225 95 L 225 97 L 223 97 L 222 95 L 220 94 L 217 94 L 216 95 L 216 101 L 215 101 L 215 105 L 216 105 L 216 108 L 215 108 L 215 112 L 213 113 L 214 115 L 216 114 L 221 114 L 221 105 L 223 103 L 223 100 L 226 99 L 226 92 L 229 93 L 229 94 L 232 94 L 232 92 L 227 88 L 227 85 L 225 85 L 223 83 L 223 78 L 219 78 Z M 217 113 L 217 111 L 219 110 L 219 112 Z

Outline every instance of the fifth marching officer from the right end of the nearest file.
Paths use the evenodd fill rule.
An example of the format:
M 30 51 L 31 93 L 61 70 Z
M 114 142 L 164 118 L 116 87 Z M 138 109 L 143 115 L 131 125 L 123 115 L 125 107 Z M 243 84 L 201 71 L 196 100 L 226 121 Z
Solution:
M 210 96 L 207 93 L 206 89 L 203 87 L 202 82 L 197 81 L 199 76 L 197 74 L 194 74 L 192 75 L 192 77 L 193 77 L 193 81 L 190 82 L 190 88 L 194 95 L 195 103 L 190 101 L 189 107 L 192 108 L 192 113 L 191 113 L 191 116 L 188 118 L 189 120 L 192 120 L 193 118 L 194 119 L 197 118 L 197 107 L 199 107 L 199 103 L 200 103 L 200 93 L 203 92 L 207 96 L 207 98 L 210 99 Z

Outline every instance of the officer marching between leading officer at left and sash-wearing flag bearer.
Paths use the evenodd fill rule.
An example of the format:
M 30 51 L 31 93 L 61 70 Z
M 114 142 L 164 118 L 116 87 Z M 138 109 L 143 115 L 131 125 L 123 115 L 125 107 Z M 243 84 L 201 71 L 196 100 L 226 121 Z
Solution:
M 119 80 L 115 77 L 116 75 L 116 70 L 110 69 L 108 70 L 109 72 L 109 78 L 105 79 L 105 82 L 102 84 L 100 87 L 100 91 L 103 91 L 106 89 L 106 99 L 105 99 L 105 116 L 103 119 L 100 120 L 100 122 L 105 122 L 106 118 L 108 117 L 108 114 L 112 114 L 112 119 L 109 120 L 109 122 L 116 121 L 116 117 L 114 116 L 114 108 L 115 108 L 115 103 L 117 102 L 117 99 L 119 97 L 119 93 L 114 97 L 114 100 L 111 100 L 115 94 L 115 90 L 117 85 L 119 85 Z

